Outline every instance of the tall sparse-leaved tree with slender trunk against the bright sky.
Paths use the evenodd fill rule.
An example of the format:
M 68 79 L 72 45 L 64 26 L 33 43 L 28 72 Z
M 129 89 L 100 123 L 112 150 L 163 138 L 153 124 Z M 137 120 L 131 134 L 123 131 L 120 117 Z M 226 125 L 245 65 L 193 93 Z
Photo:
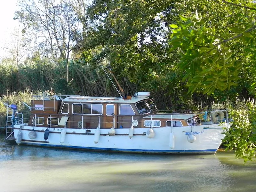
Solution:
M 24 0 L 20 1 L 19 7 L 15 19 L 25 26 L 23 32 L 36 37 L 35 43 L 43 49 L 41 53 L 45 56 L 55 61 L 59 58 L 66 60 L 68 69 L 70 52 L 77 48 L 73 39 L 80 30 L 70 1 Z

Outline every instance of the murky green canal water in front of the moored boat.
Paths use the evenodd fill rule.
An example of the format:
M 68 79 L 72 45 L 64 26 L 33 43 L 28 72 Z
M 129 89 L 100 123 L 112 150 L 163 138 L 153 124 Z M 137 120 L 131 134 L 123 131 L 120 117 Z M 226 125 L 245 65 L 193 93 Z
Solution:
M 18 146 L 0 135 L 0 191 L 255 191 L 233 153 L 141 155 Z

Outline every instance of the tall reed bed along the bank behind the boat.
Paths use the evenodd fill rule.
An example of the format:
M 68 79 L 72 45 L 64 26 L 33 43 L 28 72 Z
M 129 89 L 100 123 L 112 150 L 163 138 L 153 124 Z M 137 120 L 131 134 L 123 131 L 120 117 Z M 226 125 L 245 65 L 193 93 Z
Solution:
M 100 62 L 106 68 L 107 62 L 105 60 Z M 184 85 L 180 85 L 175 90 L 172 86 L 163 89 L 159 86 L 152 86 L 155 88 L 142 87 L 139 83 L 132 82 L 122 74 L 115 75 L 127 95 L 133 95 L 139 91 L 149 91 L 151 96 L 155 98 L 155 103 L 159 109 L 196 110 L 209 106 L 209 102 L 199 103 L 205 96 L 195 95 L 195 97 L 191 97 L 186 95 L 187 88 Z M 110 78 L 116 85 L 111 75 Z M 19 68 L 11 65 L 0 65 L 0 100 L 9 100 L 10 103 L 14 102 L 18 105 L 20 105 L 21 100 L 30 103 L 32 93 L 36 94 L 46 90 L 64 95 L 119 97 L 114 85 L 101 66 L 87 63 L 84 60 L 71 60 L 68 63 L 68 82 L 66 81 L 66 62 L 64 61 L 55 64 L 49 60 L 40 60 L 38 63 L 34 62 Z M 16 97 L 20 99 L 15 100 Z M 205 98 L 205 100 L 209 101 L 209 98 Z M 3 105 L 0 106 L 0 113 L 3 114 Z

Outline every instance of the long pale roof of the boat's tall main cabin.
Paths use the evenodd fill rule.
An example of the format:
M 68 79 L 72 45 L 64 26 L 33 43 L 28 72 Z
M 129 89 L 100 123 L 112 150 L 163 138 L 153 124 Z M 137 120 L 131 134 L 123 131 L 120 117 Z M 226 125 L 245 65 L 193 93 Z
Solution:
M 91 96 L 71 96 L 63 99 L 64 102 L 99 102 L 99 103 L 137 103 L 138 101 L 152 99 L 149 97 L 132 97 L 123 99 L 121 97 L 91 97 Z

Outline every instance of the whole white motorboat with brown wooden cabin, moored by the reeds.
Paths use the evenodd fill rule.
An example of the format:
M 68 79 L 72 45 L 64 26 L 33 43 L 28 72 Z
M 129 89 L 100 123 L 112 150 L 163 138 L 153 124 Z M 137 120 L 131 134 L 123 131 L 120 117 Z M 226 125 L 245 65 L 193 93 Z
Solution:
M 227 110 L 159 113 L 149 92 L 62 98 L 33 96 L 28 123 L 12 105 L 16 123 L 12 121 L 6 139 L 14 135 L 18 144 L 99 151 L 214 154 L 224 138 L 223 127 L 231 125 Z M 200 119 L 203 115 L 208 121 Z

